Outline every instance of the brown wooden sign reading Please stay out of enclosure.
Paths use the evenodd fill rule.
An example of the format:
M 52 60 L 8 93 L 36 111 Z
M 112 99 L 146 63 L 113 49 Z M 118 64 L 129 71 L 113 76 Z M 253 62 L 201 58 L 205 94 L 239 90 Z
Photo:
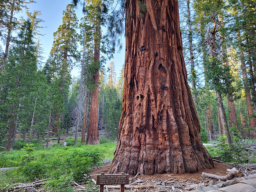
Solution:
M 120 192 L 124 192 L 124 185 L 129 183 L 129 175 L 124 172 L 121 175 L 105 175 L 101 172 L 97 175 L 96 185 L 100 185 L 100 192 L 103 192 L 104 185 L 121 185 Z

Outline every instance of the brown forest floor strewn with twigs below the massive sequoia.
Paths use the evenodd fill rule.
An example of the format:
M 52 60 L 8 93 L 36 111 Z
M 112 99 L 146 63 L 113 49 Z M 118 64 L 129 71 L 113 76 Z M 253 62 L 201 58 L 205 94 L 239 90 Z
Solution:
M 126 192 L 185 192 L 185 191 L 210 191 L 212 189 L 207 189 L 209 186 L 214 188 L 221 188 L 231 181 L 220 181 L 209 178 L 203 178 L 202 172 L 212 173 L 215 175 L 224 176 L 228 174 L 227 169 L 232 169 L 234 166 L 232 164 L 222 164 L 214 162 L 215 168 L 213 169 L 204 169 L 196 173 L 185 173 L 185 174 L 154 174 L 154 175 L 139 175 L 137 178 L 130 177 L 129 184 L 125 187 Z M 99 168 L 95 168 L 90 172 L 92 179 L 96 180 L 96 175 L 104 172 L 108 173 L 111 164 L 106 164 Z M 235 165 L 236 166 L 236 165 Z M 251 177 L 256 177 L 255 167 L 236 167 L 237 170 L 241 171 L 245 178 L 238 178 L 237 180 L 250 179 Z M 251 175 L 248 176 L 248 175 Z M 243 176 L 243 175 L 242 175 Z M 234 182 L 233 181 L 233 182 Z M 104 192 L 119 192 L 119 186 L 105 186 Z

